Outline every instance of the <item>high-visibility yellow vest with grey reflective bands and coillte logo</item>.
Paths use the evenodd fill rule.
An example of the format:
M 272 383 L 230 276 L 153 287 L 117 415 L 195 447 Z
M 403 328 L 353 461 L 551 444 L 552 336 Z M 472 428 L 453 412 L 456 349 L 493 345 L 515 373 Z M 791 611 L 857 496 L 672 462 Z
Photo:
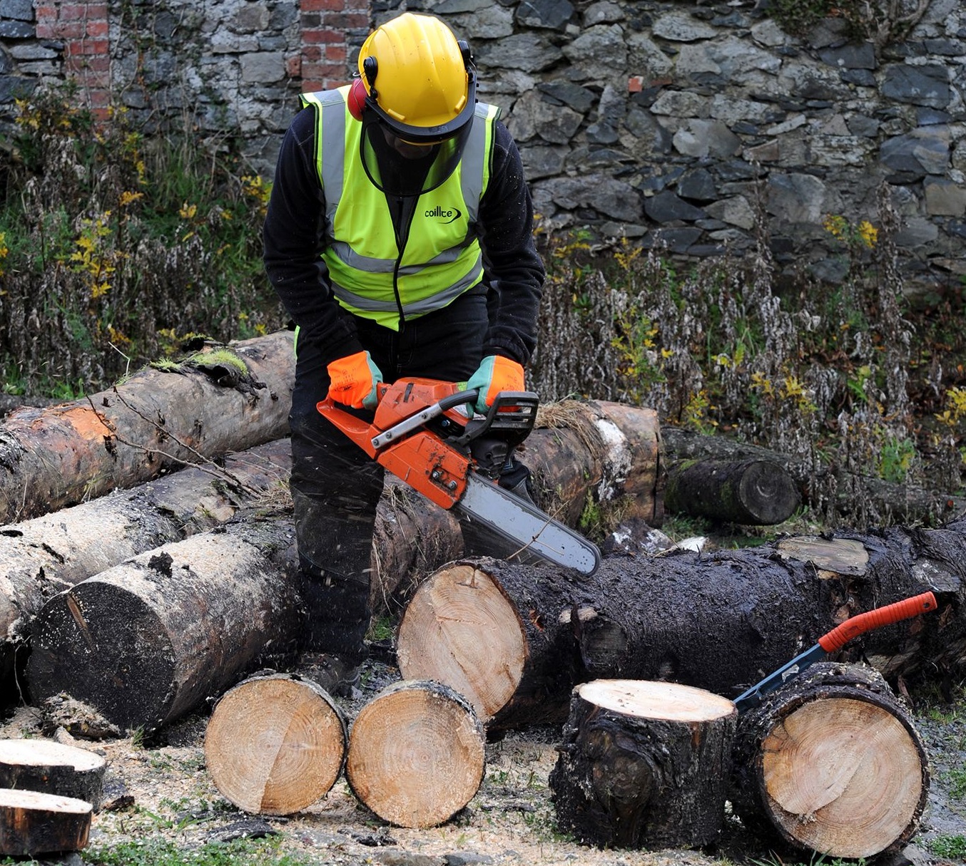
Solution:
M 478 103 L 455 171 L 416 203 L 405 249 L 399 250 L 385 195 L 359 158 L 362 124 L 349 113 L 348 87 L 302 94 L 316 106 L 316 170 L 326 196 L 322 259 L 339 303 L 356 316 L 398 330 L 406 319 L 440 310 L 483 278 L 476 233 L 480 199 L 490 182 L 499 109 Z M 397 269 L 398 261 L 398 269 Z

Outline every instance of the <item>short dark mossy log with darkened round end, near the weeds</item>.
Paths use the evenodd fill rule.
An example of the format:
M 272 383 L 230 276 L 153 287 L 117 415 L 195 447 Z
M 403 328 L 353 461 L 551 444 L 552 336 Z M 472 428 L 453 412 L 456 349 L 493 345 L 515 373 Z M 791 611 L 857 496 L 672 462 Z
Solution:
M 767 526 L 791 517 L 799 501 L 791 476 L 774 461 L 683 461 L 668 468 L 669 512 Z

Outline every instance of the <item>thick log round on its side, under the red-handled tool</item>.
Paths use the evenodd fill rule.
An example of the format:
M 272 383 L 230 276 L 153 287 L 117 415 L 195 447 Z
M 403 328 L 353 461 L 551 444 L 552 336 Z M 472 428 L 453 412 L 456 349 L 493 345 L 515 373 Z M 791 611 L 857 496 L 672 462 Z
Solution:
M 912 718 L 873 668 L 819 662 L 741 716 L 732 802 L 793 848 L 870 857 L 919 828 L 928 758 Z

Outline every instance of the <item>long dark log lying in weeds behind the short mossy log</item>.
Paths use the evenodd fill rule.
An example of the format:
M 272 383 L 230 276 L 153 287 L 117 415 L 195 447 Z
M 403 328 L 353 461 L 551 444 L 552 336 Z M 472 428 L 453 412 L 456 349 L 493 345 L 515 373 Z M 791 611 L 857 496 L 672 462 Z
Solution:
M 864 500 L 867 511 L 878 515 L 881 525 L 888 523 L 924 523 L 937 526 L 955 515 L 966 514 L 966 499 L 942 490 L 899 485 L 870 475 L 856 475 L 837 467 L 825 466 L 814 473 L 800 457 L 781 454 L 757 445 L 737 442 L 726 436 L 707 436 L 694 431 L 662 425 L 661 438 L 670 461 L 759 460 L 779 463 L 794 479 L 804 503 L 820 511 L 824 489 L 838 489 L 834 513 L 853 525 L 859 510 L 857 498 Z M 830 479 L 828 476 L 832 476 Z M 831 482 L 831 484 L 830 484 Z

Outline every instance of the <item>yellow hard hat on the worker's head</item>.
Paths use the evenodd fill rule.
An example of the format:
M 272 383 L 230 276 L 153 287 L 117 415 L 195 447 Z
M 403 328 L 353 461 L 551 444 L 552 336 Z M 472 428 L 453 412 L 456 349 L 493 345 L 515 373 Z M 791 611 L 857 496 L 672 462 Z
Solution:
M 472 120 L 469 45 L 433 15 L 404 13 L 377 28 L 362 43 L 358 69 L 365 107 L 405 141 L 440 141 Z

